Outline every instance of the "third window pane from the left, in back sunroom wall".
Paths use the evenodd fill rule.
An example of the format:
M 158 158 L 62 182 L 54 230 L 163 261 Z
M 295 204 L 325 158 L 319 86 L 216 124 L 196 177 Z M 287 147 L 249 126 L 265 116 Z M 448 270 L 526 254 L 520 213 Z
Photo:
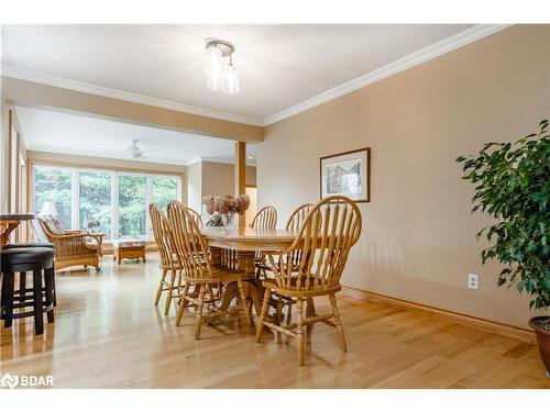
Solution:
M 119 176 L 119 236 L 145 237 L 146 188 L 142 176 Z

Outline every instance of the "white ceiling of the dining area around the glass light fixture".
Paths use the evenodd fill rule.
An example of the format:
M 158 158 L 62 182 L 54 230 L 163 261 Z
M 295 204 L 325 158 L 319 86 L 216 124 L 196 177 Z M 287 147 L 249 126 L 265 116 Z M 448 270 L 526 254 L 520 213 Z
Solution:
M 472 26 L 3 25 L 1 62 L 8 75 L 26 71 L 38 79 L 84 82 L 265 124 L 308 99 L 466 30 Z M 208 37 L 237 46 L 239 94 L 206 88 Z

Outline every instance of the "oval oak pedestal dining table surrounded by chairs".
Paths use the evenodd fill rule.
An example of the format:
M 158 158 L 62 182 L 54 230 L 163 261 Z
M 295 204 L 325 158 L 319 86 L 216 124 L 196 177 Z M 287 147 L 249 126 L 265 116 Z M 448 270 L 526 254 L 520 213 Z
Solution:
M 260 315 L 264 288 L 255 276 L 255 259 L 260 252 L 278 252 L 287 248 L 293 244 L 298 232 L 284 229 L 204 226 L 201 233 L 208 240 L 212 265 L 231 265 L 234 269 L 250 274 L 244 282 L 244 293 Z M 230 259 L 227 259 L 228 255 L 231 256 Z M 227 285 L 221 297 L 220 309 L 228 310 L 231 301 L 238 296 L 237 282 Z

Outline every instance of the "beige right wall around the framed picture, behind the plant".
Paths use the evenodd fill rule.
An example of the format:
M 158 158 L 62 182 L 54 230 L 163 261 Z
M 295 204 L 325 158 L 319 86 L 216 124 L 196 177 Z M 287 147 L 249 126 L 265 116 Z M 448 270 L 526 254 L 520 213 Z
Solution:
M 319 157 L 372 147 L 371 203 L 346 286 L 526 326 L 525 297 L 482 266 L 472 187 L 454 159 L 512 141 L 550 115 L 550 26 L 513 26 L 266 127 L 258 145 L 258 207 L 279 226 L 319 197 Z M 480 274 L 480 289 L 466 287 Z

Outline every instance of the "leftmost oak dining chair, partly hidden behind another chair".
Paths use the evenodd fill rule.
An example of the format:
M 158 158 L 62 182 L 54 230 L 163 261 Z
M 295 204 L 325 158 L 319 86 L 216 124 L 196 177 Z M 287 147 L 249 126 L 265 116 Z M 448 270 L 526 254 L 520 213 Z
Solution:
M 161 283 L 156 291 L 155 307 L 158 307 L 161 296 L 166 292 L 166 303 L 164 305 L 164 314 L 168 314 L 172 300 L 179 298 L 183 288 L 182 269 L 183 265 L 176 254 L 176 248 L 173 242 L 172 229 L 168 220 L 164 215 L 161 207 L 156 203 L 148 205 L 148 214 L 153 226 L 153 235 L 158 254 L 161 255 Z M 169 275 L 169 280 L 166 279 Z

